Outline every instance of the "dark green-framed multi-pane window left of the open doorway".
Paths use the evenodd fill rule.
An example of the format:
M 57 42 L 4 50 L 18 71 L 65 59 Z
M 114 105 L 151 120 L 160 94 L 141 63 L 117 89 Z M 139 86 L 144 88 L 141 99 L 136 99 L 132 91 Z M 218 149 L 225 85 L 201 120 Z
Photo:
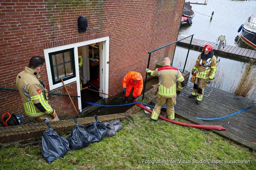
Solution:
M 53 85 L 75 77 L 74 48 L 49 53 Z

